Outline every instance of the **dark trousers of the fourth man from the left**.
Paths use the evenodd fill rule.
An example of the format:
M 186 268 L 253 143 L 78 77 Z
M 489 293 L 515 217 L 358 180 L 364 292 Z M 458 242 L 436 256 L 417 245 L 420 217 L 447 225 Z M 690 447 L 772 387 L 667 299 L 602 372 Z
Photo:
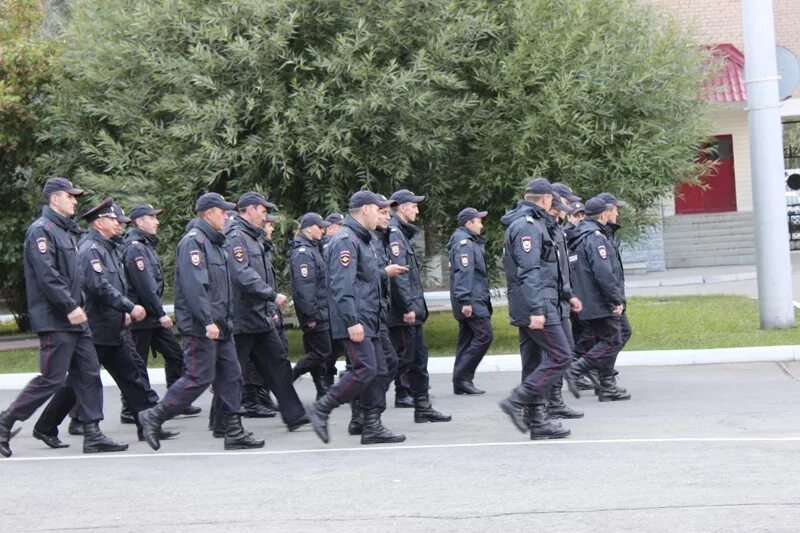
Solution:
M 183 375 L 164 395 L 162 404 L 173 415 L 182 413 L 214 385 L 218 413 L 238 413 L 242 407 L 242 368 L 233 339 L 183 339 Z

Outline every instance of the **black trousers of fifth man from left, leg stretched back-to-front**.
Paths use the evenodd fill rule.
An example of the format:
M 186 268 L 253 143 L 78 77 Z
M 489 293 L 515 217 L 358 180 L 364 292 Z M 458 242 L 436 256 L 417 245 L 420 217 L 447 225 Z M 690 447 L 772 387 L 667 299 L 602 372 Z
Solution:
M 240 333 L 236 338 L 239 363 L 251 363 L 270 391 L 278 399 L 278 408 L 285 424 L 293 424 L 306 416 L 306 410 L 294 389 L 292 363 L 287 344 L 277 329 L 263 333 Z M 216 392 L 216 386 L 214 387 Z

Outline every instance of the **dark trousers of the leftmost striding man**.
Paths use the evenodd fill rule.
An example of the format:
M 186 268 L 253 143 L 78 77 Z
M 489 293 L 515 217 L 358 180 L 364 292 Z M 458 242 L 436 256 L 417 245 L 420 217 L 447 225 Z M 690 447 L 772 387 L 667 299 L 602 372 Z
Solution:
M 65 385 L 75 390 L 73 403 L 77 402 L 76 411 L 81 421 L 103 419 L 100 365 L 88 329 L 40 333 L 39 371 L 41 373 L 8 407 L 7 413 L 12 419 L 27 420 Z

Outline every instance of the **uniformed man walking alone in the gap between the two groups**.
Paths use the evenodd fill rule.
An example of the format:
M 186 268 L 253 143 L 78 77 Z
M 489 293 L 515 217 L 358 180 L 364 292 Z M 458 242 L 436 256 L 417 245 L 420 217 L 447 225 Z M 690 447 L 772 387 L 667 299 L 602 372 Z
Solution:
M 458 213 L 459 227 L 447 245 L 450 251 L 450 305 L 458 321 L 455 394 L 483 394 L 472 380 L 492 344 L 492 298 L 486 268 L 486 239 L 481 236 L 488 211 L 466 207 Z

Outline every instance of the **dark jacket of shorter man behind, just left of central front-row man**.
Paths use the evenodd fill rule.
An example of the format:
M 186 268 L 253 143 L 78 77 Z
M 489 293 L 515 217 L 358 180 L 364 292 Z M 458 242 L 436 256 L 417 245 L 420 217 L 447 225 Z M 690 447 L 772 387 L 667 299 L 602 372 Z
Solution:
M 304 236 L 292 241 L 289 263 L 292 276 L 292 301 L 303 331 L 327 331 L 328 280 L 320 243 Z M 316 322 L 313 329 L 309 322 Z

